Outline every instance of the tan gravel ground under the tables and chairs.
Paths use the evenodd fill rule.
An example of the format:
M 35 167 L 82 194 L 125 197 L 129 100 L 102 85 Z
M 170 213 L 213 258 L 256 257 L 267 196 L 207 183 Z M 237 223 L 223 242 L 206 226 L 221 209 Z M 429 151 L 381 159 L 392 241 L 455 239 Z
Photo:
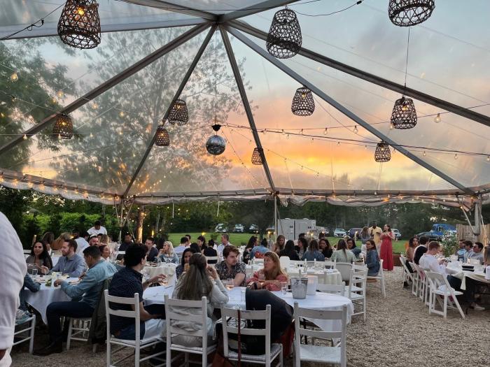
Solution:
M 363 322 L 361 316 L 356 316 L 347 326 L 348 366 L 489 366 L 488 304 L 485 311 L 469 310 L 466 319 L 449 309 L 444 320 L 438 315 L 428 315 L 428 308 L 407 289 L 402 289 L 400 268 L 385 275 L 386 298 L 381 296 L 377 283 L 368 283 L 367 320 Z M 45 333 L 36 332 L 36 345 L 45 343 Z M 479 342 L 480 347 L 477 346 Z M 99 352 L 92 354 L 89 346 L 73 342 L 71 350 L 62 354 L 34 357 L 27 353 L 27 346 L 19 346 L 12 357 L 15 367 L 65 367 L 73 362 L 76 366 L 90 367 L 105 366 L 106 353 L 105 349 L 99 348 Z M 131 361 L 123 366 L 134 366 Z M 291 360 L 286 359 L 286 366 L 292 365 Z

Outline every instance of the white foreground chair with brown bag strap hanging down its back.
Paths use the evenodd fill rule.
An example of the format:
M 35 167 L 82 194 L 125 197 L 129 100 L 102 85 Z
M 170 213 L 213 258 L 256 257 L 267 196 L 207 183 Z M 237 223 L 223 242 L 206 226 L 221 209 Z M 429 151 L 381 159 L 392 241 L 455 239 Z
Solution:
M 265 329 L 253 329 L 248 327 L 240 328 L 241 335 L 253 335 L 265 337 L 265 354 L 244 354 L 241 353 L 241 362 L 248 362 L 253 364 L 265 364 L 265 366 L 271 366 L 272 361 L 279 357 L 279 363 L 276 366 L 283 365 L 282 344 L 270 343 L 270 325 L 271 325 L 271 307 L 265 306 L 265 311 L 245 311 L 240 310 L 240 319 L 244 320 L 263 320 L 265 321 Z M 225 358 L 231 361 L 238 361 L 238 353 L 230 350 L 228 343 L 228 333 L 237 334 L 238 328 L 235 324 L 230 326 L 228 324 L 228 318 L 238 318 L 238 311 L 235 308 L 221 307 L 221 319 L 223 322 L 223 354 Z

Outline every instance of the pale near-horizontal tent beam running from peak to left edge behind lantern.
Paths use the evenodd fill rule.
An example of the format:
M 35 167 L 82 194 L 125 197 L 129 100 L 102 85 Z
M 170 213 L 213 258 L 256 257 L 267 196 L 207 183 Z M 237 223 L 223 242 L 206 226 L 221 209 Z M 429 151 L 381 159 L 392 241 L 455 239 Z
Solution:
M 102 33 L 120 32 L 120 31 L 139 31 L 142 29 L 160 29 L 160 28 L 172 28 L 172 27 L 188 27 L 191 25 L 197 25 L 207 22 L 202 18 L 193 19 L 179 19 L 179 20 L 161 20 L 157 22 L 127 22 L 118 24 L 101 24 Z M 6 37 L 13 32 L 18 31 L 18 27 L 0 27 L 0 38 Z M 34 27 L 31 31 L 22 31 L 15 36 L 11 36 L 8 39 L 27 39 L 38 37 L 53 37 L 57 36 L 57 23 L 45 23 L 43 27 Z

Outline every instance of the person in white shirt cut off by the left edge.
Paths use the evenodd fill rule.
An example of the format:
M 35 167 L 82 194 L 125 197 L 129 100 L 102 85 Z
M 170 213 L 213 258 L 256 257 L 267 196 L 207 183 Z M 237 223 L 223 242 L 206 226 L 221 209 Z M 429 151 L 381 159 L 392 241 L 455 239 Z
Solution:
M 10 348 L 13 344 L 15 313 L 20 301 L 19 293 L 27 273 L 22 243 L 7 217 L 0 212 L 1 256 L 0 256 L 0 367 L 12 363 Z

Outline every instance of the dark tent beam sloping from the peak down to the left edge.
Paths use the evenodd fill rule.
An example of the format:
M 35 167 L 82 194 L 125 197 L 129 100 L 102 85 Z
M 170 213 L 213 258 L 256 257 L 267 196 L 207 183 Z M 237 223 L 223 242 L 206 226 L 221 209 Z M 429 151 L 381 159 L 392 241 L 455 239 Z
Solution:
M 208 24 L 200 24 L 193 27 L 192 29 L 189 29 L 185 33 L 181 34 L 181 36 L 174 38 L 172 41 L 162 46 L 155 52 L 152 52 L 150 55 L 139 60 L 139 62 L 132 64 L 132 66 L 130 66 L 129 68 L 118 73 L 118 75 L 115 75 L 111 79 L 107 80 L 106 82 L 103 82 L 101 85 L 92 89 L 87 94 L 76 99 L 76 101 L 71 102 L 68 106 L 62 108 L 62 110 L 59 110 L 58 113 L 53 113 L 52 115 L 46 117 L 43 121 L 36 124 L 34 127 L 31 127 L 30 129 L 24 131 L 22 135 L 18 135 L 15 138 L 13 138 L 11 141 L 9 141 L 8 143 L 0 147 L 0 155 L 6 152 L 7 150 L 10 150 L 11 148 L 15 147 L 15 145 L 18 145 L 19 143 L 24 141 L 23 138 L 24 135 L 32 136 L 34 134 L 37 134 L 46 125 L 48 125 L 50 122 L 53 122 L 57 116 L 61 114 L 72 113 L 74 110 L 82 107 L 83 105 L 85 105 L 85 103 L 92 101 L 92 99 L 96 98 L 100 94 L 111 89 L 113 86 L 118 85 L 120 82 L 123 82 L 127 78 L 130 78 L 131 75 L 134 75 L 141 69 L 144 69 L 144 67 L 148 66 L 152 62 L 155 62 L 155 60 L 160 59 L 160 57 L 162 57 L 163 55 L 166 55 L 168 52 L 178 48 L 179 45 L 186 43 L 188 40 L 190 40 L 190 38 L 197 36 L 197 34 L 200 34 L 202 31 L 204 31 L 204 29 L 207 29 L 208 27 L 209 27 Z

